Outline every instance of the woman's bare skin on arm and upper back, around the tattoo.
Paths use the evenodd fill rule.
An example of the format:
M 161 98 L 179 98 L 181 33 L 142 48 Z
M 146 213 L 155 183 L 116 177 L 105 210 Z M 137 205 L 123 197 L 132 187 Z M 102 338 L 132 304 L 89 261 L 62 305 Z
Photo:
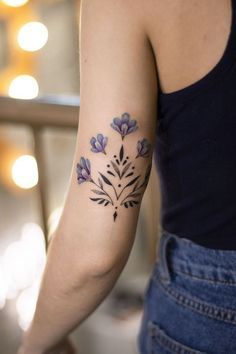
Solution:
M 91 161 L 96 177 L 106 172 L 107 156 L 121 143 L 110 123 L 124 112 L 139 126 L 125 140 L 127 155 L 135 158 L 136 143 L 143 138 L 153 147 L 157 68 L 164 92 L 197 81 L 222 55 L 229 23 L 229 0 L 81 1 L 81 107 L 74 162 L 35 316 L 18 354 L 64 350 L 67 335 L 110 293 L 132 249 L 145 188 L 140 203 L 121 208 L 114 222 L 110 205 L 90 200 L 91 185 L 78 185 L 81 156 Z M 90 139 L 100 132 L 111 141 L 107 155 L 91 151 Z M 151 161 L 152 154 L 137 159 L 137 173 Z M 65 350 L 69 354 L 71 349 Z

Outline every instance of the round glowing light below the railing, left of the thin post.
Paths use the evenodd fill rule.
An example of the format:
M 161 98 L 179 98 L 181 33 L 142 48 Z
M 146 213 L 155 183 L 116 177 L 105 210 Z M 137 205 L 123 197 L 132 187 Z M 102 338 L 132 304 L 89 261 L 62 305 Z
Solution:
M 23 155 L 15 160 L 12 166 L 12 179 L 23 189 L 30 189 L 38 183 L 38 166 L 31 155 Z

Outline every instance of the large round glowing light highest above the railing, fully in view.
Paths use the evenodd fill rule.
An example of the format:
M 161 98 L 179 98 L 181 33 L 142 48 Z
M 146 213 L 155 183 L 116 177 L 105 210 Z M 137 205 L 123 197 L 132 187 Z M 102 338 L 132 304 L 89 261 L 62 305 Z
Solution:
M 41 49 L 48 40 L 47 27 L 41 22 L 29 22 L 21 27 L 17 41 L 19 46 L 29 52 Z

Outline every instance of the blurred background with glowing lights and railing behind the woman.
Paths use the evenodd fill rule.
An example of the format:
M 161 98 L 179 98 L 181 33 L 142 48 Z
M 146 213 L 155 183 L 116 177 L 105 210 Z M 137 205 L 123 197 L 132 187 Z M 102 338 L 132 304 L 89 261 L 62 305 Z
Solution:
M 71 173 L 80 104 L 79 10 L 78 0 L 0 1 L 1 354 L 16 353 L 32 319 L 47 240 Z M 73 332 L 80 353 L 137 353 L 158 245 L 159 196 L 152 171 L 128 263 L 110 295 Z

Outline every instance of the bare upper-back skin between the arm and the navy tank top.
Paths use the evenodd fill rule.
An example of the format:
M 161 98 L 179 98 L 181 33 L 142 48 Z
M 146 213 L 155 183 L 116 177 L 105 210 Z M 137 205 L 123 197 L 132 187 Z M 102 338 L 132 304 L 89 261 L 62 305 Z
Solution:
M 144 6 L 164 93 L 189 86 L 218 63 L 230 33 L 231 0 L 157 0 Z

